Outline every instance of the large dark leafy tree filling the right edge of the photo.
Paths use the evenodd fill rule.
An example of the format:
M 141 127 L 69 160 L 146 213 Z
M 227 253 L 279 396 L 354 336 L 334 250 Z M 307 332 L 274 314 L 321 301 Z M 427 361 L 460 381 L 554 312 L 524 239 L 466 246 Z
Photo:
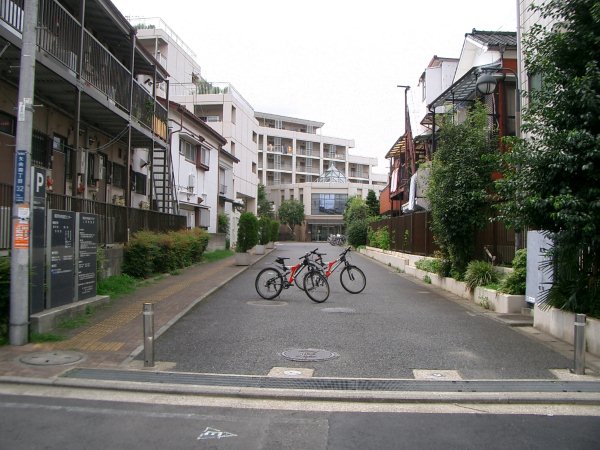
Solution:
M 525 140 L 514 140 L 498 190 L 502 217 L 551 234 L 552 306 L 600 316 L 600 3 L 548 0 L 552 26 L 524 36 Z

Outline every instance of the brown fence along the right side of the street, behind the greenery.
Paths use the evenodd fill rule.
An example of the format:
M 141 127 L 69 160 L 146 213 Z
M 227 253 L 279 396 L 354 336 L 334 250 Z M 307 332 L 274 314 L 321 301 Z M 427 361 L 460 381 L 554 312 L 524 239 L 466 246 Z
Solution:
M 433 256 L 438 246 L 431 232 L 431 213 L 420 211 L 382 219 L 371 224 L 374 230 L 386 227 L 390 233 L 391 250 L 414 255 Z M 474 236 L 473 259 L 490 260 L 510 265 L 515 257 L 515 232 L 501 222 L 490 222 Z

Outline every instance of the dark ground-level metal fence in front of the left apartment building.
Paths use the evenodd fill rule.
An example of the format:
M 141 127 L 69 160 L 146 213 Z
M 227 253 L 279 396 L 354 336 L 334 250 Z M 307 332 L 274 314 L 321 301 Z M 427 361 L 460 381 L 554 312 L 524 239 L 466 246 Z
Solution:
M 147 209 L 101 203 L 68 195 L 47 194 L 46 208 L 96 214 L 99 220 L 98 243 L 125 243 L 130 233 L 141 230 L 166 232 L 186 228 L 186 218 Z M 11 246 L 12 186 L 0 184 L 0 250 Z

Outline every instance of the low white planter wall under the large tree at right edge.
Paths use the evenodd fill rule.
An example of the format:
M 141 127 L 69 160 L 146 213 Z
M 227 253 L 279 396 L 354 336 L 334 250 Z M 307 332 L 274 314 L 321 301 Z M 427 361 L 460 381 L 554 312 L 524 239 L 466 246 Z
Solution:
M 556 308 L 543 310 L 536 303 L 533 310 L 533 326 L 538 330 L 568 342 L 574 343 L 575 313 L 562 311 Z M 592 317 L 586 318 L 585 342 L 587 351 L 600 356 L 600 320 Z

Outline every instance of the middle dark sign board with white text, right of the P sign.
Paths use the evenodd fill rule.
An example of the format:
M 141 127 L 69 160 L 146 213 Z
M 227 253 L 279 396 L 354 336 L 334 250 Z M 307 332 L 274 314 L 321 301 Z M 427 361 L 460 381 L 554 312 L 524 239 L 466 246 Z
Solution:
M 75 298 L 75 213 L 50 210 L 47 252 L 48 307 L 67 305 Z

